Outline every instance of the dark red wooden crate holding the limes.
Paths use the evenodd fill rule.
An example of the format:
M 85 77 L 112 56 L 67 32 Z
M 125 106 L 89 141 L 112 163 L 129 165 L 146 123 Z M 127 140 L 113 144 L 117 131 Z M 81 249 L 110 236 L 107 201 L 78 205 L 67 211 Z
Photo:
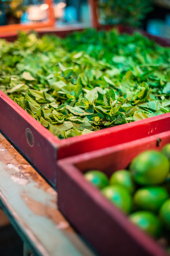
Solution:
M 161 150 L 167 143 L 170 131 L 58 161 L 58 207 L 100 255 L 168 255 L 83 177 L 88 170 L 101 170 L 110 177 L 143 150 Z

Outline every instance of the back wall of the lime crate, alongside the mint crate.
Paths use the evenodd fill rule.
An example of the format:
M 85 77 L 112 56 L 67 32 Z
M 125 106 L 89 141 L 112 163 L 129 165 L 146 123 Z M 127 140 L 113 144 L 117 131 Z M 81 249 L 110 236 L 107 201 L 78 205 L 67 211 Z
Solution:
M 161 141 L 158 143 L 158 139 Z M 105 172 L 109 177 L 113 172 L 127 169 L 132 159 L 144 150 L 160 151 L 166 144 L 170 143 L 170 131 L 138 139 L 133 142 L 96 150 L 75 157 L 73 162 L 82 172 L 97 169 Z M 159 146 L 158 146 L 159 145 Z

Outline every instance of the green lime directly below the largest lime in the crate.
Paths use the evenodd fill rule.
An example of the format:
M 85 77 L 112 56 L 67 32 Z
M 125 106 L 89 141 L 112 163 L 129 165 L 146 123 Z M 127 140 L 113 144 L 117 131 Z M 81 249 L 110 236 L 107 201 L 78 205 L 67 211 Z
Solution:
M 168 199 L 168 193 L 161 187 L 140 188 L 134 194 L 134 204 L 140 210 L 157 212 Z

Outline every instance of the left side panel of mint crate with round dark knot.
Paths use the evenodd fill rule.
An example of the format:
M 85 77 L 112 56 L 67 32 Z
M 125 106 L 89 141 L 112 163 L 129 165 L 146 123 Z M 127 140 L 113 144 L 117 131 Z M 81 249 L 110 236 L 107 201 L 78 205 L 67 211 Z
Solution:
M 56 183 L 57 138 L 0 91 L 0 130 Z

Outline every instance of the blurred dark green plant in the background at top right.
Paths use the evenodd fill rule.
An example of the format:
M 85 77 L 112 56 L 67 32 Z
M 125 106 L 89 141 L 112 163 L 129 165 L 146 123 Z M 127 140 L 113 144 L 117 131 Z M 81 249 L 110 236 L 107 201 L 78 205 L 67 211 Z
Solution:
M 152 11 L 152 0 L 98 0 L 100 22 L 139 27 Z

